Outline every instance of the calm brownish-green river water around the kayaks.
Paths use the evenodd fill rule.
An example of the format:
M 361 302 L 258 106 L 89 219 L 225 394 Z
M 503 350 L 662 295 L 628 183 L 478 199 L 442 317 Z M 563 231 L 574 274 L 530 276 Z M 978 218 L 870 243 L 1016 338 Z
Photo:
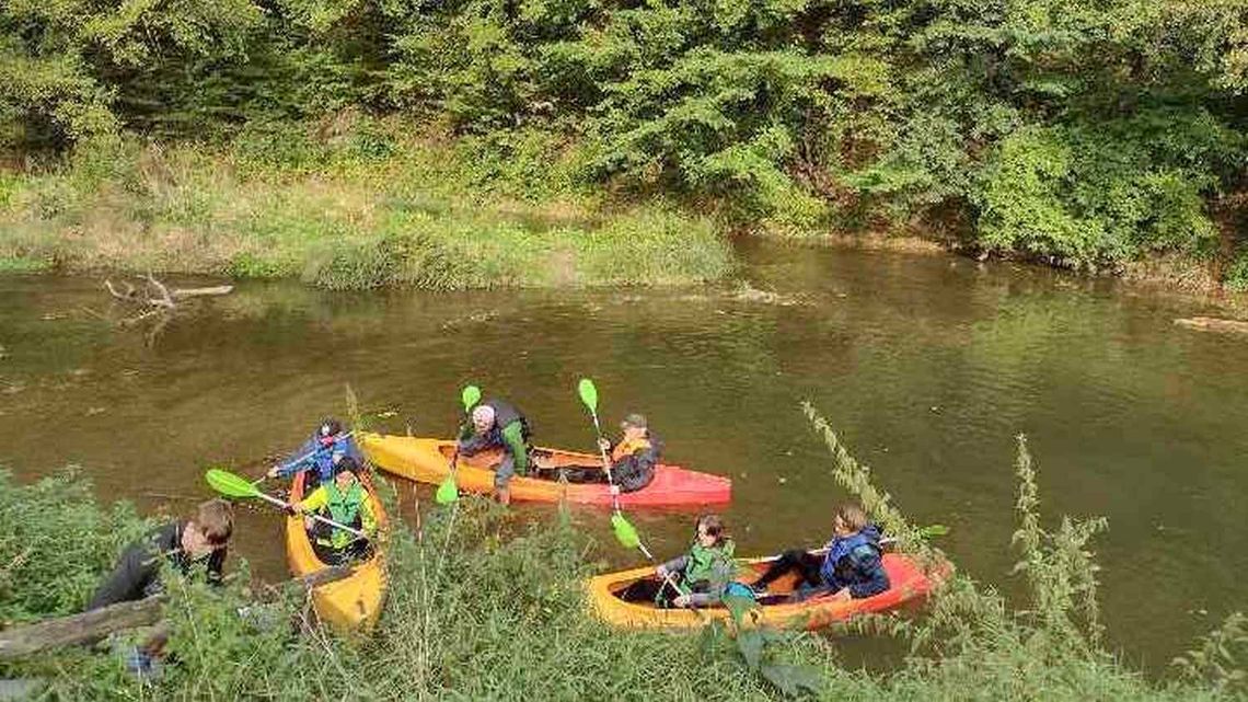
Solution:
M 210 463 L 262 470 L 349 382 L 383 428 L 447 435 L 458 388 L 515 401 L 539 442 L 592 450 L 574 386 L 610 423 L 645 412 L 666 456 L 731 476 L 739 553 L 821 542 L 845 495 L 810 400 L 958 568 L 1013 597 L 1015 436 L 1042 513 L 1104 516 L 1111 646 L 1164 672 L 1248 606 L 1248 341 L 1177 327 L 1199 304 L 1006 264 L 749 244 L 738 280 L 679 290 L 333 294 L 243 284 L 158 335 L 94 279 L 0 277 L 0 465 L 77 463 L 105 498 L 180 512 Z M 178 281 L 193 284 L 195 281 Z M 393 415 L 389 415 L 393 412 Z M 539 515 L 548 506 L 523 506 Z M 660 555 L 693 516 L 630 515 Z M 577 518 L 629 565 L 605 515 Z M 243 512 L 237 553 L 285 571 L 280 521 Z

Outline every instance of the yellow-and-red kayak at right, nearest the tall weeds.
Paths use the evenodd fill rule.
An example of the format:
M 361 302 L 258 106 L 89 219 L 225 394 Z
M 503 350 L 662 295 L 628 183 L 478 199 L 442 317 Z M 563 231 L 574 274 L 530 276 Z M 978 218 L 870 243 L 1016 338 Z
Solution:
M 753 582 L 763 575 L 771 561 L 771 558 L 743 561 L 743 567 L 753 571 L 753 576 L 743 577 L 741 581 Z M 914 558 L 899 553 L 884 555 L 884 570 L 889 573 L 891 587 L 880 595 L 861 600 L 834 600 L 830 596 L 822 596 L 801 602 L 761 603 L 746 623 L 815 630 L 856 615 L 896 610 L 925 600 L 934 583 L 942 581 L 950 572 L 947 565 L 935 573 L 924 572 L 924 568 Z M 633 568 L 589 578 L 587 587 L 592 611 L 607 623 L 622 628 L 690 630 L 703 627 L 711 620 L 726 621 L 730 617 L 729 611 L 724 607 L 663 610 L 655 607 L 650 598 L 625 601 L 626 588 L 644 580 L 656 580 L 653 567 Z M 791 592 L 795 585 L 795 576 L 782 577 L 771 585 L 770 592 L 778 595 Z

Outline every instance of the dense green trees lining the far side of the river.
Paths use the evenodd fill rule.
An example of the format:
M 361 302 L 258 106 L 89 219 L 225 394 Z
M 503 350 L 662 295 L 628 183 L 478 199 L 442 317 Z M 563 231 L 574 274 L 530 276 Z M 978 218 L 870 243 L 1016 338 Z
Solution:
M 0 140 L 227 137 L 346 109 L 534 130 L 578 175 L 774 229 L 915 226 L 1078 267 L 1234 262 L 1238 0 L 14 0 Z

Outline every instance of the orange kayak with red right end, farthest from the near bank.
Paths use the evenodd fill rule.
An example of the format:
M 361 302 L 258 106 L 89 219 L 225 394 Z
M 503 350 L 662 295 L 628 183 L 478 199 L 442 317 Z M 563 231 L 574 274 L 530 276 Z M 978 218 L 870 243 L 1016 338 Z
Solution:
M 456 443 L 438 438 L 362 433 L 357 437 L 368 458 L 383 471 L 417 482 L 441 483 L 449 473 Z M 461 456 L 456 475 L 459 490 L 490 492 L 494 490 L 494 468 L 502 453 L 487 451 L 472 457 Z M 538 467 L 577 467 L 602 470 L 597 453 L 578 453 L 559 448 L 535 448 Z M 602 482 L 562 483 L 558 480 L 515 476 L 510 483 L 512 500 L 534 502 L 577 502 L 610 506 L 612 493 L 605 475 Z M 641 490 L 620 495 L 623 507 L 660 507 L 716 505 L 730 501 L 733 481 L 710 473 L 659 463 L 654 480 Z

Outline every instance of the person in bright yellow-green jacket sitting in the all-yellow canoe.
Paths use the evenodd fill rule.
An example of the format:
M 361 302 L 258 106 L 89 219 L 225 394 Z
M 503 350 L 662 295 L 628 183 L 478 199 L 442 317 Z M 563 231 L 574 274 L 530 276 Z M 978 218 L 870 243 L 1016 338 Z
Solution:
M 296 503 L 295 511 L 302 515 L 321 513 L 341 525 L 364 532 L 367 538 L 377 533 L 377 513 L 368 491 L 356 476 L 358 466 L 351 456 L 344 456 L 336 466 L 333 480 L 321 485 L 311 495 Z M 368 552 L 368 541 L 357 537 L 347 530 L 332 527 L 324 522 L 305 518 L 305 526 L 312 537 L 312 548 L 317 558 L 331 566 L 344 563 L 352 558 L 363 557 Z

